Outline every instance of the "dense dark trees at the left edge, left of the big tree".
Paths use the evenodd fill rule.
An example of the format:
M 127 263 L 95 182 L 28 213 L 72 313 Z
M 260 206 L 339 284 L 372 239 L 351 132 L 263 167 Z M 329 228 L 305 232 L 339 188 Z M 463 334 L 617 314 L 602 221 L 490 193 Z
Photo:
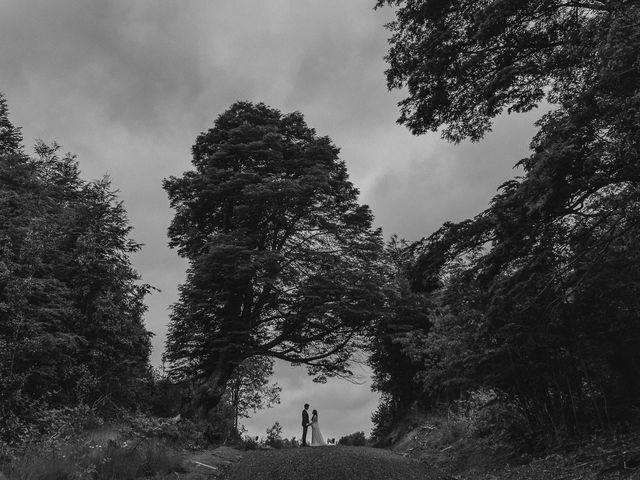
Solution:
M 0 429 L 104 396 L 132 406 L 148 379 L 150 287 L 124 207 L 57 145 L 26 156 L 0 100 Z

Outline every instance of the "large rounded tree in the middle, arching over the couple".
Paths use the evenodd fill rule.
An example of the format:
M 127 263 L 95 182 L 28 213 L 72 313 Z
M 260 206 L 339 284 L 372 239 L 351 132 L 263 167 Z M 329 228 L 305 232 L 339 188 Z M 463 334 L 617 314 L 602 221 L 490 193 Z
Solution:
M 167 358 L 215 407 L 253 356 L 348 373 L 382 306 L 382 240 L 338 149 L 298 112 L 238 102 L 193 146 L 195 170 L 165 180 L 171 246 L 189 260 Z M 320 378 L 321 378 L 320 377 Z

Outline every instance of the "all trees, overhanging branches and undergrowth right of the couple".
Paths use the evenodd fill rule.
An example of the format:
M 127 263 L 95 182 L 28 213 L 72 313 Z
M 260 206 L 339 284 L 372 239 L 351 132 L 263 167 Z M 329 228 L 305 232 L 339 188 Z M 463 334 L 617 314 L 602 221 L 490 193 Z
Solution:
M 412 133 L 482 141 L 502 113 L 547 113 L 485 209 L 390 242 L 374 435 L 411 431 L 443 465 L 531 465 L 498 478 L 637 475 L 637 2 L 378 7 L 395 13 L 387 82 Z

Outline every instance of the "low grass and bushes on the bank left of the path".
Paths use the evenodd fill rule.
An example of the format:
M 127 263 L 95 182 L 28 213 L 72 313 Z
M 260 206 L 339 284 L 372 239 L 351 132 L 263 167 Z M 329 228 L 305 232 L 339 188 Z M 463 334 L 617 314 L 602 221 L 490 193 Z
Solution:
M 37 420 L 37 421 L 36 421 Z M 41 412 L 13 443 L 0 442 L 0 472 L 12 480 L 134 479 L 184 470 L 187 452 L 210 446 L 206 422 L 125 409 L 109 419 L 86 405 Z

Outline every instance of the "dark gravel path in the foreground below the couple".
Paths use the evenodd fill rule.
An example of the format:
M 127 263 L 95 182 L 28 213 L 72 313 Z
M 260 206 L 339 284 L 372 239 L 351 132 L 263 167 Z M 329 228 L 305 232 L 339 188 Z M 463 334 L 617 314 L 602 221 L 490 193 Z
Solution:
M 430 469 L 388 450 L 313 447 L 245 452 L 225 480 L 437 480 Z

